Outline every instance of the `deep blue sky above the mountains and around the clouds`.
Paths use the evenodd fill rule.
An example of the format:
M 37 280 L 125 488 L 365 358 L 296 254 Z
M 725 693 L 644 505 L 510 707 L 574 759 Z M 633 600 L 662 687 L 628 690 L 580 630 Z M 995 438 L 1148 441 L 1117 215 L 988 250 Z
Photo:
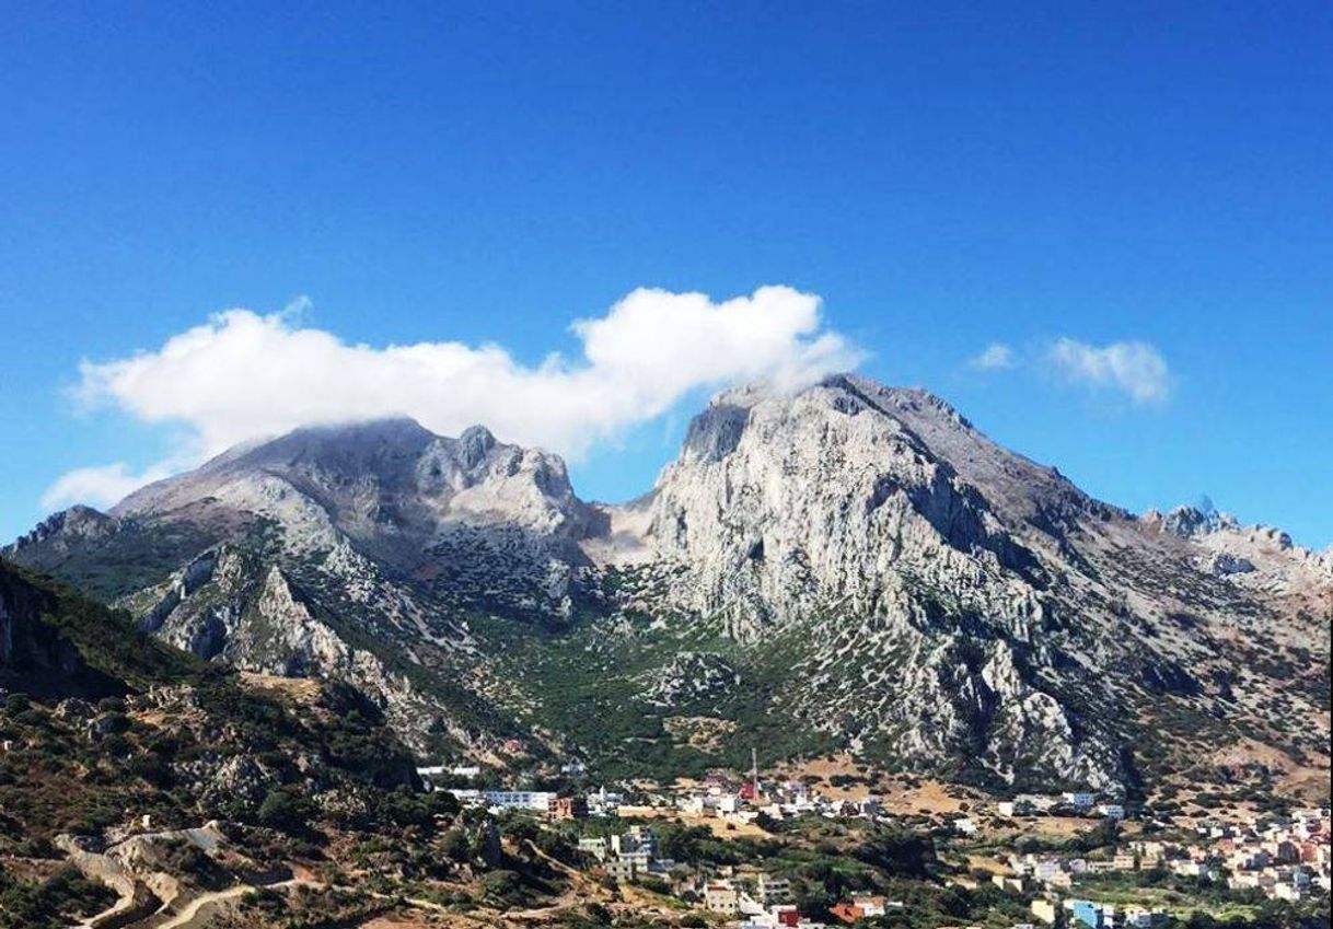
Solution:
M 789 285 L 822 300 L 793 352 L 836 336 L 1130 509 L 1208 493 L 1333 544 L 1330 20 L 11 4 L 0 536 L 73 469 L 199 453 L 197 417 L 69 391 L 80 361 L 157 353 L 228 308 L 297 301 L 280 336 L 372 353 L 495 344 L 520 373 L 560 352 L 573 391 L 591 363 L 571 323 L 620 319 L 636 288 Z M 990 345 L 1012 365 L 969 364 Z M 676 388 L 584 443 L 584 496 L 651 485 L 708 392 Z

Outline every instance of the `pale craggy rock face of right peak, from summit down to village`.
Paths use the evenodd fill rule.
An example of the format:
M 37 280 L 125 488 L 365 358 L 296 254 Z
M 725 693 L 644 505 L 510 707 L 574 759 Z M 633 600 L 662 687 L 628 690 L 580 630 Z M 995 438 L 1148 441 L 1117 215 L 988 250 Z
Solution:
M 1121 780 L 1110 734 L 1041 678 L 1046 572 L 896 399 L 846 377 L 718 397 L 647 505 L 636 557 L 676 578 L 657 609 L 756 650 L 798 629 L 780 701 L 854 745 L 968 754 L 1009 781 Z

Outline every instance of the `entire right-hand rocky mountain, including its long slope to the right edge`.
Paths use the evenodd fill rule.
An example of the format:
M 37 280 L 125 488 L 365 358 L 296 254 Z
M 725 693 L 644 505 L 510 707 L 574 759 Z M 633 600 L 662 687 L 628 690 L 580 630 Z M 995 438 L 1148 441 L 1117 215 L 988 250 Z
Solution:
M 1317 665 L 1282 722 L 1280 674 L 1245 674 L 1246 700 L 1213 685 L 1261 617 L 1333 616 L 1320 556 L 1212 512 L 1134 520 L 921 391 L 721 395 L 609 524 L 599 556 L 656 578 L 632 609 L 716 624 L 753 656 L 784 642 L 780 708 L 896 762 L 1109 789 L 1137 777 L 1129 720 L 1210 714 L 1238 726 L 1222 737 L 1289 742 L 1320 718 Z M 1280 640 L 1326 650 L 1328 628 Z

